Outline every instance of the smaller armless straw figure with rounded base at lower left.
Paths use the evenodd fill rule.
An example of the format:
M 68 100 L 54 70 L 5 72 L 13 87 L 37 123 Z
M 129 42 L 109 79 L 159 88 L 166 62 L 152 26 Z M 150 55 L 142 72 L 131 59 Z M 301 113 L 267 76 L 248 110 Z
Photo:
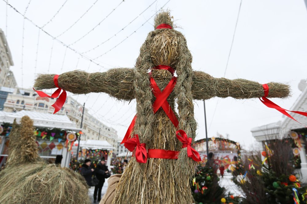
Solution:
M 90 203 L 81 175 L 41 161 L 33 131 L 28 116 L 20 125 L 14 121 L 8 161 L 0 172 L 0 203 Z

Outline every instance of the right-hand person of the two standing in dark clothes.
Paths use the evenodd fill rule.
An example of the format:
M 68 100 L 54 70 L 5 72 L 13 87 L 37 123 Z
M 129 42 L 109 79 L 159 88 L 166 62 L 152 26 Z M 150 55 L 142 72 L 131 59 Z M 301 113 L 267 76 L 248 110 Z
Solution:
M 104 183 L 104 179 L 105 179 L 105 175 L 106 173 L 109 172 L 108 167 L 106 166 L 105 163 L 105 158 L 102 157 L 101 161 L 97 164 L 97 167 L 95 169 L 95 175 L 97 177 L 97 179 L 99 180 L 98 185 L 95 186 L 95 191 L 94 191 L 94 203 L 96 202 L 96 198 L 97 198 L 97 192 L 98 192 L 98 202 L 101 200 L 101 190 L 103 187 L 103 183 Z

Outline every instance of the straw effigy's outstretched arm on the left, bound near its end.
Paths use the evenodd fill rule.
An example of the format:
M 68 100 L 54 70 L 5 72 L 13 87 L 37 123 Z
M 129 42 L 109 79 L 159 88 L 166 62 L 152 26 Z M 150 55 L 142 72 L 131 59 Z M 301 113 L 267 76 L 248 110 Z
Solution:
M 56 88 L 53 77 L 55 74 L 39 74 L 35 80 L 35 89 Z M 134 99 L 133 93 L 134 70 L 129 68 L 115 68 L 106 72 L 87 73 L 74 70 L 60 74 L 59 87 L 74 93 L 104 92 L 122 100 Z

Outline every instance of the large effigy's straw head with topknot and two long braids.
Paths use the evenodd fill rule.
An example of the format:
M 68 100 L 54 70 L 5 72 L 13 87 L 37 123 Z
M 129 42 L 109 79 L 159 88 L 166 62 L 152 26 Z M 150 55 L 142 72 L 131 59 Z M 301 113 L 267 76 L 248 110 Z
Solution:
M 155 18 L 154 27 L 160 24 L 168 24 L 173 28 L 173 20 L 169 12 L 161 12 Z M 188 50 L 185 37 L 174 29 L 162 28 L 150 32 L 140 49 L 140 55 L 134 69 L 134 93 L 137 100 L 138 119 L 135 134 L 142 135 L 142 142 L 149 141 L 153 137 L 150 124 L 154 116 L 152 110 L 153 95 L 150 88 L 148 71 L 157 65 L 167 65 L 176 70 L 177 83 L 174 89 L 178 106 L 179 127 L 194 141 L 196 121 L 194 119 L 194 105 L 191 92 L 192 86 L 192 55 Z M 166 70 L 157 70 L 171 75 Z M 168 83 L 168 81 L 167 81 Z M 177 138 L 175 138 L 177 139 Z M 177 166 L 181 167 L 177 172 L 193 175 L 195 162 L 187 157 L 187 148 L 180 151 Z M 187 166 L 188 165 L 188 166 Z

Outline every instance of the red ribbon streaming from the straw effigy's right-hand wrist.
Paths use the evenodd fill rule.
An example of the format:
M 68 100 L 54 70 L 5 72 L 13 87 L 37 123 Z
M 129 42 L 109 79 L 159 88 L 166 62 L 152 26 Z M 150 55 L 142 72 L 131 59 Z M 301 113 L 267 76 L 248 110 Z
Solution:
M 272 101 L 270 101 L 268 98 L 266 98 L 269 95 L 269 86 L 267 84 L 262 84 L 262 87 L 264 89 L 264 96 L 259 98 L 259 99 L 264 105 L 266 105 L 269 108 L 274 108 L 274 109 L 278 110 L 279 112 L 281 112 L 282 114 L 286 115 L 287 117 L 295 120 L 297 123 L 300 123 L 296 119 L 294 119 L 289 113 L 286 112 L 286 111 L 289 111 L 289 110 L 281 108 L 280 106 L 278 106 L 277 104 L 274 104 Z M 304 116 L 307 117 L 307 112 L 302 112 L 302 111 L 289 111 L 289 112 L 297 113 L 297 114 L 304 115 Z M 300 124 L 303 125 L 302 123 L 300 123 Z M 307 127 L 306 125 L 303 125 L 303 126 Z

